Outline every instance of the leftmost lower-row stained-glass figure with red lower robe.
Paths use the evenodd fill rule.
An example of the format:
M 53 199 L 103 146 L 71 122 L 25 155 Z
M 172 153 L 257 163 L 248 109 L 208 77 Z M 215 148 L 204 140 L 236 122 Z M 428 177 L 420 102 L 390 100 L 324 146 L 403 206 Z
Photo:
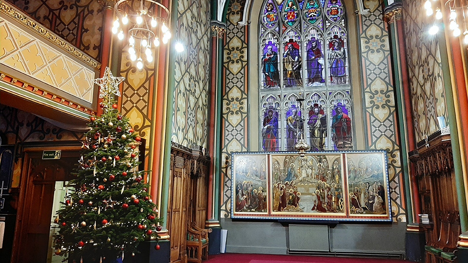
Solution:
M 278 111 L 274 108 L 268 108 L 264 113 L 262 139 L 264 151 L 277 152 L 279 150 Z

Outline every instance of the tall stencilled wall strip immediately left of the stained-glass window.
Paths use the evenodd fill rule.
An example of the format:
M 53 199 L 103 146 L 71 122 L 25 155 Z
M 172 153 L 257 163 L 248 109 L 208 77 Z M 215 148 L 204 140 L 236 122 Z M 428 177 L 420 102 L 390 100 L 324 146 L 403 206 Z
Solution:
M 223 91 L 222 159 L 233 152 L 247 151 L 247 36 L 237 23 L 242 18 L 245 0 L 230 1 L 224 44 L 225 90 Z M 256 69 L 254 70 L 256 72 Z M 231 214 L 231 170 L 222 171 L 221 217 Z

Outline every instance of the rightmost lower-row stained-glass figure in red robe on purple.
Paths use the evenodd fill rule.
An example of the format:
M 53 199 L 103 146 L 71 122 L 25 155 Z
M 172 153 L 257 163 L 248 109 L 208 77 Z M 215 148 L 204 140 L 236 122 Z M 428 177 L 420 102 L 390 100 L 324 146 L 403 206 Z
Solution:
M 332 110 L 331 140 L 335 150 L 352 150 L 351 119 L 345 105 L 337 103 Z

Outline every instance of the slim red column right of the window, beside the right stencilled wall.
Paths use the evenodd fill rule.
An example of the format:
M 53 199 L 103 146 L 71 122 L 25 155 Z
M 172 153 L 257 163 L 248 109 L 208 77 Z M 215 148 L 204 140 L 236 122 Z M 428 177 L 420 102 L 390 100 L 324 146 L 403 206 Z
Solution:
M 400 62 L 401 62 L 401 80 L 402 80 L 402 89 L 405 96 L 405 114 L 408 127 L 408 151 L 413 151 L 416 149 L 416 137 L 414 136 L 414 124 L 412 116 L 412 107 L 411 107 L 411 91 L 409 90 L 408 83 L 408 64 L 406 60 L 406 48 L 403 32 L 403 24 L 401 19 L 395 20 L 396 29 L 398 31 L 398 42 L 400 47 Z M 413 162 L 409 162 L 410 168 L 410 177 L 411 177 L 411 192 L 413 197 L 413 211 L 415 215 L 421 214 L 421 199 L 419 197 L 419 187 L 418 179 L 416 178 L 415 169 L 416 166 Z M 419 217 L 415 216 L 416 223 L 419 222 Z

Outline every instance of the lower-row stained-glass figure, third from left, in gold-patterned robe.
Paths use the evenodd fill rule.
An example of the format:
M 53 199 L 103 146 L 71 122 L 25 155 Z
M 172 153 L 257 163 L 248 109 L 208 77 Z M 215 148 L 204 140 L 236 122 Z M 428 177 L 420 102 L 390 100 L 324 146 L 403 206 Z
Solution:
M 319 104 L 314 103 L 309 111 L 309 136 L 312 151 L 325 150 L 327 137 L 327 116 Z

